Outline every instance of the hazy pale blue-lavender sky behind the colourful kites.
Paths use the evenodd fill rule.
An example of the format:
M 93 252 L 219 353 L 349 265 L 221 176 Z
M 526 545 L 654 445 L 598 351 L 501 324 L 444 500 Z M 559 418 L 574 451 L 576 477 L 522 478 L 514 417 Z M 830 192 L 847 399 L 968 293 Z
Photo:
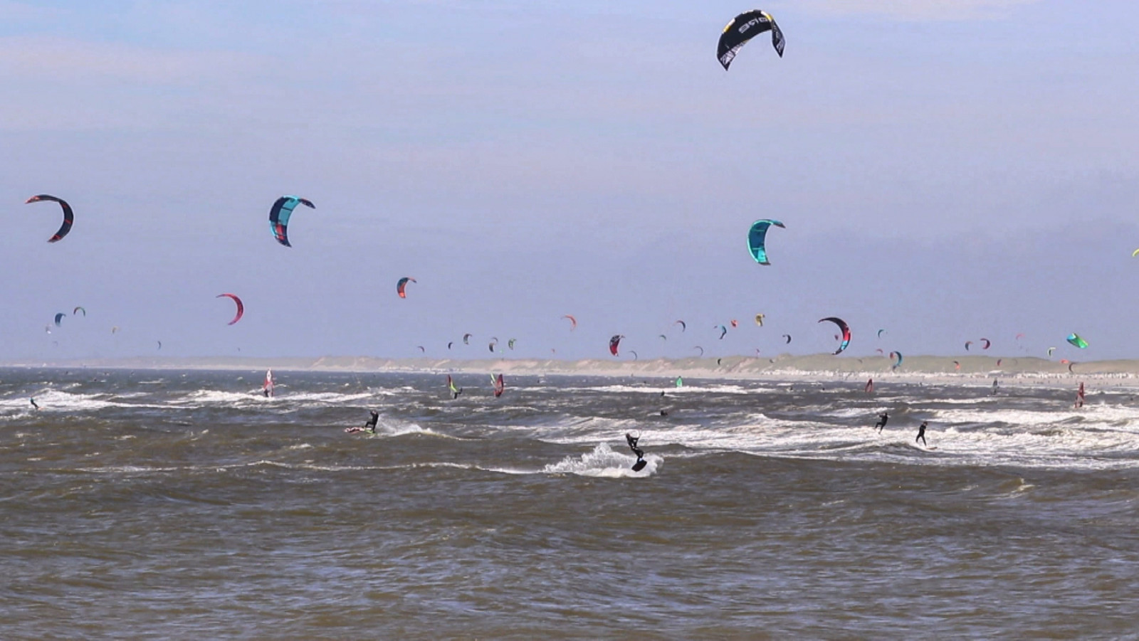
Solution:
M 1139 6 L 752 8 L 0 0 L 0 360 L 1139 358 Z

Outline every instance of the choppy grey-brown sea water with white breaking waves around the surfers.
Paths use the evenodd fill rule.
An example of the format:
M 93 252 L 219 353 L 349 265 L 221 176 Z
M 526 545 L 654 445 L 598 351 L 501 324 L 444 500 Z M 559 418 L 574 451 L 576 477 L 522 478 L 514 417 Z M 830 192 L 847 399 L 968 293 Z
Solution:
M 276 375 L 0 370 L 0 638 L 1139 638 L 1132 389 Z

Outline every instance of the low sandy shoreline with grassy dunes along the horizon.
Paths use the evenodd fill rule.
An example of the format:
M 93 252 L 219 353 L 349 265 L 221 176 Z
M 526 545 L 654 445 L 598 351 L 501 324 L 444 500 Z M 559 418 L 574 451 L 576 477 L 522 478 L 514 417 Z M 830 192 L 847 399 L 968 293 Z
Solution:
M 1000 364 L 998 364 L 998 362 Z M 957 364 L 954 364 L 957 363 Z M 3 368 L 21 369 L 151 369 L 151 370 L 265 370 L 329 372 L 502 372 L 514 375 L 565 375 L 599 377 L 767 379 L 767 380 L 865 380 L 876 383 L 985 383 L 997 378 L 1013 384 L 1067 385 L 1080 379 L 1139 384 L 1139 360 L 1068 363 L 1038 358 L 1013 356 L 907 356 L 903 365 L 882 356 L 834 356 L 784 354 L 771 359 L 729 356 L 723 359 L 380 359 L 372 356 L 320 358 L 131 358 L 69 359 L 58 361 L 5 361 Z M 959 369 L 958 369 L 959 365 Z

